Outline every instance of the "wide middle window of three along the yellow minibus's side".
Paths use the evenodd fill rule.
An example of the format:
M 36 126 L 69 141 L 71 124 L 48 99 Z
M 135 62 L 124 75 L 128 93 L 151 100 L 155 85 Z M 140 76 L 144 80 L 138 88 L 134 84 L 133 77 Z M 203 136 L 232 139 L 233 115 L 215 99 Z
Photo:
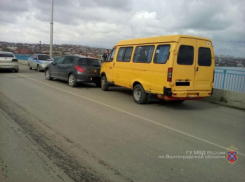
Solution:
M 135 63 L 150 63 L 155 46 L 138 46 L 135 49 Z

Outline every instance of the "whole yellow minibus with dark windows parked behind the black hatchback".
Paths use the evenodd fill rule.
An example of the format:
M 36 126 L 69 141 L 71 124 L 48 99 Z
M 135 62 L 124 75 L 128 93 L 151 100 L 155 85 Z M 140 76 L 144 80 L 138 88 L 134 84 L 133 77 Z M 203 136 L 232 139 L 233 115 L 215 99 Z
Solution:
M 169 35 L 119 41 L 101 67 L 101 88 L 118 85 L 133 90 L 134 101 L 150 96 L 183 102 L 212 94 L 212 41 L 189 35 Z

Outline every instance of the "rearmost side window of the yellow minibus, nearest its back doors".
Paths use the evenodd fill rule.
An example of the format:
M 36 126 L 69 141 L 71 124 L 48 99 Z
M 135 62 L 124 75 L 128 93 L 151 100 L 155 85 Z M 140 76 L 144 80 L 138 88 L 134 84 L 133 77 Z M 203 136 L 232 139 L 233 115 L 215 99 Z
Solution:
M 170 45 L 159 45 L 154 56 L 154 63 L 165 64 L 169 57 Z

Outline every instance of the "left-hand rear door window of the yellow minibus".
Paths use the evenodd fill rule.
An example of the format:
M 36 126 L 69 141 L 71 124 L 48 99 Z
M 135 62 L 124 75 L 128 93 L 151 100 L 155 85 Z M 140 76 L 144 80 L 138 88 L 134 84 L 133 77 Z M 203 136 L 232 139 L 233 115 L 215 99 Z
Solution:
M 194 59 L 194 47 L 181 45 L 179 48 L 177 63 L 181 65 L 192 65 Z

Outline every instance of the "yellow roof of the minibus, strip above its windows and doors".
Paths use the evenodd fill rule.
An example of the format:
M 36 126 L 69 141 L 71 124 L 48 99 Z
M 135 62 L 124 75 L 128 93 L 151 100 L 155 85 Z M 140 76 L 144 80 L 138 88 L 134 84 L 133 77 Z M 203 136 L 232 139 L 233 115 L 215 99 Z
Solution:
M 191 35 L 167 35 L 158 37 L 145 37 L 138 39 L 121 40 L 116 45 L 134 45 L 134 44 L 148 44 L 148 43 L 158 43 L 158 42 L 179 42 L 180 38 L 194 38 L 200 40 L 210 41 L 210 39 L 203 37 L 196 37 Z

